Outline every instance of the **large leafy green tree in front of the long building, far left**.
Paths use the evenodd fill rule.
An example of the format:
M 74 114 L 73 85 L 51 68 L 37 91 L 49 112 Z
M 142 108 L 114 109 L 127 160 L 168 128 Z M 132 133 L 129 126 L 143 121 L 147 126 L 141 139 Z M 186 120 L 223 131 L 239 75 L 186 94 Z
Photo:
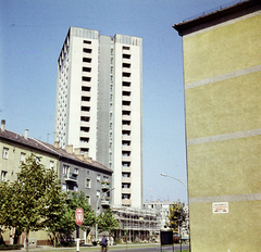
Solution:
M 28 251 L 28 236 L 30 230 L 39 230 L 45 227 L 53 227 L 51 219 L 64 209 L 63 194 L 60 180 L 53 169 L 46 169 L 32 154 L 21 165 L 17 180 L 5 181 L 0 185 L 0 217 L 1 225 L 15 227 L 26 237 L 26 251 Z M 52 203 L 52 200 L 54 202 Z

